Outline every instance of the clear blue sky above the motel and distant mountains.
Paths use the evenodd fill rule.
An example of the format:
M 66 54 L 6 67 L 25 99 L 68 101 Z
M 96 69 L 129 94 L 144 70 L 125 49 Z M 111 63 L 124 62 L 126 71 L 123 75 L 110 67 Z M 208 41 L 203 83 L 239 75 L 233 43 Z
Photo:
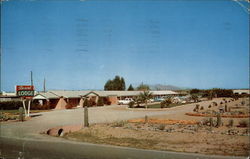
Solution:
M 115 75 L 191 88 L 248 88 L 249 30 L 233 1 L 2 3 L 2 90 L 103 89 Z

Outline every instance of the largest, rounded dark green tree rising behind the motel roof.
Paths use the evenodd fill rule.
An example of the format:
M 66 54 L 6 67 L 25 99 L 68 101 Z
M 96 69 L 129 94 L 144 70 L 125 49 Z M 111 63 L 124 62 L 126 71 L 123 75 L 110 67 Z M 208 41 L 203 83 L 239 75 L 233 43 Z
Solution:
M 113 80 L 108 80 L 104 85 L 104 90 L 125 90 L 126 84 L 123 77 L 115 76 Z

